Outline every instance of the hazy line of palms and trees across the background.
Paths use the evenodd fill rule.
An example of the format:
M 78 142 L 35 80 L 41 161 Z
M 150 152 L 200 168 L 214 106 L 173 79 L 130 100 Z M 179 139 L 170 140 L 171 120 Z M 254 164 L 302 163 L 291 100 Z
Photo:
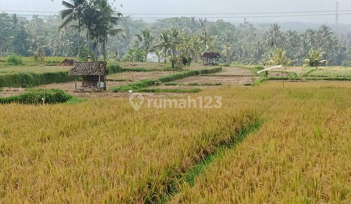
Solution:
M 326 25 L 283 32 L 278 24 L 262 31 L 246 20 L 234 25 L 179 17 L 146 23 L 122 17 L 107 0 L 62 4 L 65 10 L 59 17 L 27 19 L 0 13 L 0 55 L 200 62 L 204 52 L 215 51 L 221 53 L 223 63 L 266 65 L 279 50 L 290 65 L 312 64 L 307 59 L 314 58 L 332 66 L 351 66 L 351 34 L 335 34 Z

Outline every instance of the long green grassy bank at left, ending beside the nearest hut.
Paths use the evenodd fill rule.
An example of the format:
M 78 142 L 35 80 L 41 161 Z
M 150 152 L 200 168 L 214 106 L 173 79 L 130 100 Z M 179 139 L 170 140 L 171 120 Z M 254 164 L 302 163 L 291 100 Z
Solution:
M 0 87 L 33 87 L 74 81 L 68 71 L 48 73 L 14 73 L 0 75 Z

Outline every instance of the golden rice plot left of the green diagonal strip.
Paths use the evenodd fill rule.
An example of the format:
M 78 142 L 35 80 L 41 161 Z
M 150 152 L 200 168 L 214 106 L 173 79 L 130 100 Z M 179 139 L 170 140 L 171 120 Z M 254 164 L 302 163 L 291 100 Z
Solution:
M 249 104 L 136 113 L 126 99 L 0 111 L 3 203 L 157 203 L 257 117 Z

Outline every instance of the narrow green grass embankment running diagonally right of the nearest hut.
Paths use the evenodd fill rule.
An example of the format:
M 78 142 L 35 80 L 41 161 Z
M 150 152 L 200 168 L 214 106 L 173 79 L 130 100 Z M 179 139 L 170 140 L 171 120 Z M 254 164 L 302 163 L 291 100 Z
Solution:
M 158 79 L 148 79 L 141 80 L 135 83 L 131 83 L 129 85 L 122 85 L 117 88 L 112 88 L 114 92 L 127 92 L 129 90 L 138 91 L 140 89 L 144 89 L 153 85 L 157 85 L 157 83 L 168 83 L 172 81 L 176 81 L 179 79 L 183 79 L 190 76 L 199 75 L 201 73 L 215 73 L 217 71 L 221 71 L 221 67 L 212 68 L 212 69 L 203 69 L 203 70 L 190 70 L 190 71 L 182 71 L 177 72 L 175 74 L 171 74 L 168 76 L 160 77 Z M 178 90 L 178 89 L 177 89 Z

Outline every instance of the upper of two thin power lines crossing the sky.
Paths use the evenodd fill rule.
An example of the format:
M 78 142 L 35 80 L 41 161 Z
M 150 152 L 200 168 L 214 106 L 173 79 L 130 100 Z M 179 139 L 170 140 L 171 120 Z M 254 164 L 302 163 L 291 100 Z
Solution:
M 32 12 L 32 13 L 59 13 L 57 11 L 21 11 L 21 10 L 0 10 L 3 12 Z M 293 11 L 293 12 L 260 12 L 260 13 L 124 13 L 124 15 L 255 15 L 255 14 L 303 14 L 303 13 L 329 13 L 329 12 L 350 12 L 351 10 L 328 10 L 328 11 Z

